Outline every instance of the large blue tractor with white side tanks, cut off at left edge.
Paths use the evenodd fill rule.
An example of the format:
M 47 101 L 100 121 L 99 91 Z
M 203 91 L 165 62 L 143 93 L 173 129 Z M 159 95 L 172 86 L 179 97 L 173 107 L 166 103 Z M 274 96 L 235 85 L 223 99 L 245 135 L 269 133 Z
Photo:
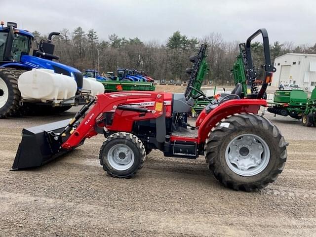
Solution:
M 83 79 L 78 69 L 53 61 L 59 57 L 54 55 L 52 37 L 59 34 L 52 32 L 40 40 L 30 55 L 34 36 L 17 29 L 16 23 L 4 27 L 1 22 L 0 118 L 17 115 L 23 108 L 35 109 L 34 105 L 66 111 L 103 92 L 98 91 L 103 88 L 100 82 Z

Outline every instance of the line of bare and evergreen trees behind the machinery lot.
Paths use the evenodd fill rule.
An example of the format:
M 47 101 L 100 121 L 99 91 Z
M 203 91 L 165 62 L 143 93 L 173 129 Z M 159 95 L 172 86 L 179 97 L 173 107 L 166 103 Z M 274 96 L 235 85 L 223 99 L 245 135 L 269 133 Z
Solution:
M 233 84 L 231 69 L 239 54 L 238 41 L 225 41 L 218 33 L 210 33 L 201 39 L 188 38 L 179 31 L 174 32 L 166 43 L 157 41 L 143 42 L 139 38 L 109 35 L 108 40 L 100 40 L 97 32 L 90 29 L 85 32 L 77 27 L 73 32 L 68 29 L 54 36 L 55 54 L 60 62 L 78 68 L 99 69 L 101 73 L 116 72 L 119 67 L 138 69 L 160 81 L 184 81 L 189 78 L 185 70 L 191 67 L 191 55 L 197 54 L 201 43 L 207 44 L 207 61 L 210 71 L 206 83 Z M 46 39 L 38 31 L 33 32 L 37 40 Z M 246 39 L 246 36 L 245 36 Z M 258 71 L 264 62 L 263 45 L 254 42 L 252 57 Z M 285 53 L 316 53 L 314 46 L 293 42 L 274 42 L 270 46 L 271 58 Z M 259 72 L 260 74 L 260 72 Z

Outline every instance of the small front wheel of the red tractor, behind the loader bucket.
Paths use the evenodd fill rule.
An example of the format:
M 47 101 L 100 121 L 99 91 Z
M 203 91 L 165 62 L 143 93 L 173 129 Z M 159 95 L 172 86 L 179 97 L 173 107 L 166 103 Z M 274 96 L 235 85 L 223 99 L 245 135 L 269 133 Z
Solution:
M 100 163 L 113 177 L 132 178 L 143 167 L 146 150 L 142 141 L 127 132 L 117 132 L 106 138 L 100 149 Z

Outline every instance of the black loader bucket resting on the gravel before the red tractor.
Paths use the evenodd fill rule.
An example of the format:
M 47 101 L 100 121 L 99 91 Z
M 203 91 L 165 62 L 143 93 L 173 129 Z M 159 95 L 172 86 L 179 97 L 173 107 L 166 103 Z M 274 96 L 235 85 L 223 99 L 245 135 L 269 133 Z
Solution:
M 52 140 L 48 132 L 60 133 L 69 121 L 70 119 L 65 119 L 23 128 L 22 141 L 16 153 L 12 170 L 38 167 L 67 153 L 67 150 L 59 149 L 60 143 Z

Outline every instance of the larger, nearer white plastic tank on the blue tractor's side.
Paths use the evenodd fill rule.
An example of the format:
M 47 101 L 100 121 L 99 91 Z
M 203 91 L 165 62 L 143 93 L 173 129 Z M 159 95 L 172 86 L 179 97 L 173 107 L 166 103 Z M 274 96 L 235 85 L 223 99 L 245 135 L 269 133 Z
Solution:
M 65 100 L 75 96 L 74 78 L 54 73 L 49 69 L 33 69 L 23 73 L 18 80 L 22 98 Z

